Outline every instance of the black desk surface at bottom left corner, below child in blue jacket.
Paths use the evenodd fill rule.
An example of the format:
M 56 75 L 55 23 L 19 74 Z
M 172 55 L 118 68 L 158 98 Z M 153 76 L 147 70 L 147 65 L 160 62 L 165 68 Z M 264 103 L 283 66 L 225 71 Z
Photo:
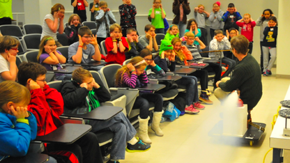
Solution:
M 42 153 L 27 153 L 23 157 L 8 157 L 1 163 L 43 163 L 48 159 L 49 156 Z

